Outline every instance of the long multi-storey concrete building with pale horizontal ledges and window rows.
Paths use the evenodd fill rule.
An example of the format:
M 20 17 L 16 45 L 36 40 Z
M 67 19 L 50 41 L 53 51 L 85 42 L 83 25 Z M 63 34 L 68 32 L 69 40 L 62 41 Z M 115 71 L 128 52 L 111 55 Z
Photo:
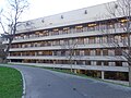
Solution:
M 99 4 L 23 22 L 17 27 L 8 59 L 22 64 L 70 69 L 67 58 L 70 49 L 61 46 L 76 44 L 73 70 L 99 78 L 128 81 L 128 63 L 118 49 L 108 46 L 108 35 L 102 33 L 102 29 L 111 30 L 116 26 L 114 38 L 118 38 L 118 42 L 127 40 L 121 29 L 126 20 L 110 21 L 103 16 L 105 14 L 108 14 L 106 5 Z

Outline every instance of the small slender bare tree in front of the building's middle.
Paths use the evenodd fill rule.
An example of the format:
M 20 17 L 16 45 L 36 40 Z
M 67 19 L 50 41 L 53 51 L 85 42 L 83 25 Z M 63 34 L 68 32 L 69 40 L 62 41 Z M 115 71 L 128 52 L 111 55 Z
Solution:
M 74 60 L 78 58 L 75 56 L 76 47 L 76 41 L 70 42 L 69 40 L 63 40 L 63 44 L 61 45 L 62 54 L 66 56 L 66 58 L 68 59 L 71 72 L 73 72 L 72 65 L 74 64 Z

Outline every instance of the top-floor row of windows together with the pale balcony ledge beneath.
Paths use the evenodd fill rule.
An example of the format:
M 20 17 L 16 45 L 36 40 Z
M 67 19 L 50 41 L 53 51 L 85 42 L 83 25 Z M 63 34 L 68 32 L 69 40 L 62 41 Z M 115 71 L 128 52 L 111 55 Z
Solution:
M 33 33 L 24 33 L 24 34 L 19 34 L 15 36 L 14 41 L 16 40 L 25 40 L 25 39 L 32 39 L 32 38 L 37 38 L 37 37 L 47 37 L 47 36 L 55 36 L 55 35 L 67 35 L 67 34 L 78 34 L 78 33 L 92 33 L 92 32 L 99 32 L 100 35 L 103 33 L 106 33 L 107 30 L 109 33 L 115 33 L 118 29 L 121 29 L 122 26 L 124 26 L 126 23 L 119 23 L 116 25 L 90 25 L 88 27 L 84 27 L 83 25 L 76 26 L 75 28 L 71 27 L 63 27 L 62 30 L 59 28 L 53 28 L 52 32 L 50 30 L 39 30 L 39 32 L 33 32 Z M 123 28 L 122 28 L 123 30 Z M 120 32 L 122 32 L 120 30 Z M 103 33 L 102 33 L 103 32 Z M 119 32 L 117 32 L 119 33 Z M 5 39 L 7 41 L 7 39 Z

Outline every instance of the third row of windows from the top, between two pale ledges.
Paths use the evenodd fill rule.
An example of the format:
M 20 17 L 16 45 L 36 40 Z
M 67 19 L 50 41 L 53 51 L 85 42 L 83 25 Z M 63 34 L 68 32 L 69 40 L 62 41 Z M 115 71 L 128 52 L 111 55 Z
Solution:
M 74 50 L 69 50 L 69 49 L 59 49 L 59 50 L 10 50 L 10 56 L 60 56 L 60 57 L 69 57 L 69 56 L 76 56 L 76 57 L 83 57 L 83 56 L 109 56 L 109 57 L 115 57 L 115 56 L 123 56 L 124 53 L 128 53 L 128 49 L 74 49 Z

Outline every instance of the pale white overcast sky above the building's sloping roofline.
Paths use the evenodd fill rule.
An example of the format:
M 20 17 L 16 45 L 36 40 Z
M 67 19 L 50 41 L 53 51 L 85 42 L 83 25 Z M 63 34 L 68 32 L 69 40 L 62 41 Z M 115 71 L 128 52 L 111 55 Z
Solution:
M 0 0 L 0 8 L 5 0 Z M 53 15 L 67 11 L 87 8 L 116 0 L 28 0 L 29 9 L 22 16 L 22 21 Z

